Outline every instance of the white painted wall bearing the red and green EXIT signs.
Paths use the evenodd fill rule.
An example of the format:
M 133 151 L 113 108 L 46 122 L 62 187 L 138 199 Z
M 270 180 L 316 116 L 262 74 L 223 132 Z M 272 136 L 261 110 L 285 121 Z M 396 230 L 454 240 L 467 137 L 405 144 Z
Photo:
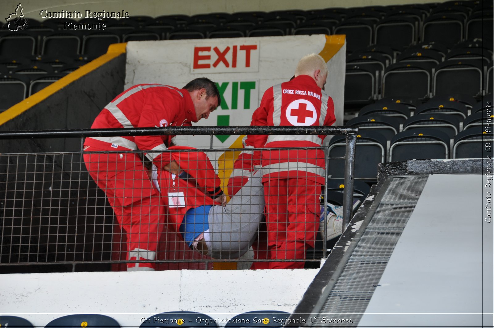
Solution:
M 241 50 L 241 47 L 245 45 L 255 47 L 250 51 L 248 65 L 246 64 L 247 51 Z M 324 35 L 128 42 L 125 88 L 139 83 L 164 83 L 183 87 L 187 82 L 203 76 L 220 85 L 229 83 L 228 87 L 237 83 L 235 84 L 238 85 L 236 87 L 238 89 L 237 109 L 232 108 L 231 88 L 226 88 L 223 95 L 224 103 L 226 102 L 228 107 L 218 108 L 207 120 L 203 119 L 194 125 L 220 125 L 219 119 L 225 116 L 228 116 L 230 120 L 227 125 L 249 125 L 252 113 L 257 109 L 264 91 L 274 84 L 288 81 L 293 76 L 300 58 L 311 52 L 321 52 L 325 45 Z M 213 51 L 214 48 L 217 50 Z M 198 49 L 209 50 L 199 52 Z M 232 64 L 234 49 L 237 49 L 235 68 Z M 226 62 L 217 62 L 218 51 L 226 52 Z M 213 67 L 215 62 L 216 66 Z M 204 68 L 199 68 L 201 66 Z M 343 123 L 345 46 L 329 60 L 328 69 L 326 92 L 335 102 L 336 124 L 341 125 Z M 245 91 L 239 89 L 242 82 L 255 82 L 256 85 L 255 89 L 250 90 L 248 108 L 244 108 Z M 226 140 L 220 140 L 214 137 L 213 147 L 227 148 L 236 138 L 237 136 L 230 136 Z M 208 148 L 210 145 L 209 137 L 205 136 L 177 136 L 175 142 L 179 145 L 191 145 L 197 148 Z

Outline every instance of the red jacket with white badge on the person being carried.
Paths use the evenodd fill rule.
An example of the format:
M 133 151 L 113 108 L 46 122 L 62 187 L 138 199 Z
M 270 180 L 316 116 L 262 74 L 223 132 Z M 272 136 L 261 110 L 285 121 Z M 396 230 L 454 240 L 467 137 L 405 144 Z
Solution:
M 185 146 L 172 146 L 168 149 L 176 151 L 169 153 L 172 160 L 177 162 L 180 168 L 190 175 L 188 179 L 180 179 L 178 176 L 173 178 L 169 171 L 158 170 L 161 195 L 168 208 L 167 221 L 178 233 L 178 228 L 182 224 L 183 216 L 187 210 L 201 205 L 221 205 L 214 202 L 211 196 L 220 195 L 222 191 L 220 179 L 214 172 L 214 168 L 205 153 Z M 185 206 L 170 207 L 170 204 L 168 204 L 168 193 L 170 192 L 183 192 Z

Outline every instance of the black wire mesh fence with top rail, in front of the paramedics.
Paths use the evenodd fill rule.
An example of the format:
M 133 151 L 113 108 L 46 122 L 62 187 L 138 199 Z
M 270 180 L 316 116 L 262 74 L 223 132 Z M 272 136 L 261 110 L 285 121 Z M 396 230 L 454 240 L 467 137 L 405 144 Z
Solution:
M 345 181 L 352 186 L 356 129 L 344 127 L 13 131 L 0 139 L 227 133 L 347 134 Z M 225 151 L 242 149 L 145 153 L 90 146 L 0 154 L 2 272 L 211 269 L 213 262 L 248 268 L 326 257 L 326 231 L 320 232 L 326 224 L 319 222 L 326 181 L 316 178 L 327 175 L 325 147 L 263 148 L 263 158 L 269 153 L 278 161 L 248 172 L 235 192 L 224 168 L 231 165 L 219 164 Z M 158 169 L 156 158 L 178 163 L 178 170 Z M 229 189 L 231 199 L 222 196 Z M 344 199 L 351 204 L 351 192 Z M 343 213 L 347 222 L 350 207 Z

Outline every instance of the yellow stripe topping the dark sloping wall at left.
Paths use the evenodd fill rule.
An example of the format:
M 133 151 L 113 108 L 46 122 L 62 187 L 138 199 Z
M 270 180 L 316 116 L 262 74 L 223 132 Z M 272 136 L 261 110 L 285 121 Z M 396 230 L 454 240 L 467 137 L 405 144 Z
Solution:
M 56 82 L 51 83 L 50 85 L 36 92 L 32 96 L 24 99 L 23 101 L 0 113 L 0 125 L 19 116 L 20 114 L 24 113 L 34 105 L 39 104 L 41 101 L 48 98 L 52 94 L 60 91 L 62 88 L 69 85 L 70 83 L 76 81 L 87 73 L 94 71 L 98 67 L 103 66 L 105 63 L 109 62 L 115 57 L 118 57 L 122 53 L 125 53 L 126 45 L 126 42 L 110 44 L 110 46 L 108 47 L 108 51 L 104 55 L 101 55 L 98 58 L 90 61 L 74 72 L 68 74 L 67 76 L 61 78 Z

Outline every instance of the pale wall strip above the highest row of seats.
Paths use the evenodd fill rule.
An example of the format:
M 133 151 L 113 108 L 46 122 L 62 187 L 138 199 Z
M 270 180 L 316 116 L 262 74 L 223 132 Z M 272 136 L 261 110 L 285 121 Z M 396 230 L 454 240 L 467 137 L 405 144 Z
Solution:
M 130 15 L 160 16 L 166 14 L 195 15 L 209 12 L 272 11 L 284 9 L 322 9 L 329 7 L 359 7 L 370 5 L 390 5 L 408 3 L 444 2 L 426 0 L 2 0 L 0 17 L 3 19 L 21 2 L 24 15 L 28 18 L 41 19 L 40 11 L 119 11 L 126 10 Z

